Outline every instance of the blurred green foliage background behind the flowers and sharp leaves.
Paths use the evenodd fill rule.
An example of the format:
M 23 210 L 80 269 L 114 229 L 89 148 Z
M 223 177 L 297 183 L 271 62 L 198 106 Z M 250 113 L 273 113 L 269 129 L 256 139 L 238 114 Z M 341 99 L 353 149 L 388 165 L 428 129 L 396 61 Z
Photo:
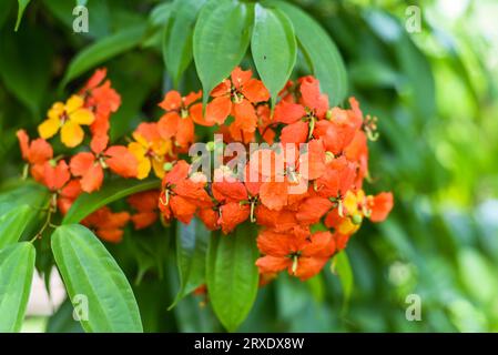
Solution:
M 325 270 L 306 283 L 280 277 L 260 291 L 240 331 L 498 331 L 498 2 L 293 2 L 334 39 L 349 92 L 378 116 L 370 191 L 392 190 L 396 204 L 385 223 L 366 224 L 352 239 L 352 275 L 343 271 L 339 280 Z M 34 132 L 50 103 L 63 95 L 59 83 L 70 60 L 120 29 L 146 23 L 149 37 L 102 63 L 123 100 L 112 136 L 159 116 L 155 103 L 171 82 L 161 58 L 162 3 L 88 0 L 87 6 L 88 33 L 72 31 L 72 0 L 32 1 L 13 32 L 17 1 L 0 2 L 2 185 L 21 175 L 14 132 L 21 126 Z M 421 14 L 414 33 L 406 30 L 410 6 Z M 182 87 L 199 87 L 193 67 Z M 174 261 L 161 258 L 167 252 L 151 243 L 167 248 L 169 236 L 156 231 L 148 237 L 126 235 L 122 245 L 110 246 L 134 282 L 145 329 L 221 331 L 202 297 L 166 311 L 177 285 Z M 130 250 L 140 253 L 131 257 Z M 410 294 L 421 301 L 419 322 L 405 316 Z M 29 317 L 26 329 L 79 331 L 68 302 L 55 311 L 50 318 Z

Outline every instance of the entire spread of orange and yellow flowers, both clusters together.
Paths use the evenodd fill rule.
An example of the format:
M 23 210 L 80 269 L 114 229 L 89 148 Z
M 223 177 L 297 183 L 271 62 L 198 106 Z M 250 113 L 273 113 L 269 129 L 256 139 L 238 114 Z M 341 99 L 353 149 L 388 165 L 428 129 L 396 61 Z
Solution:
M 51 209 L 62 214 L 82 192 L 98 191 L 105 174 L 142 180 L 153 172 L 160 191 L 130 196 L 128 212 L 105 206 L 82 223 L 110 242 L 121 241 L 126 223 L 144 229 L 160 214 L 165 223 L 196 216 L 223 234 L 255 223 L 262 283 L 284 270 L 312 277 L 365 219 L 382 222 L 393 209 L 392 193 L 364 192 L 376 119 L 365 116 L 354 98 L 347 109 L 331 108 L 318 80 L 303 77 L 289 81 L 272 106 L 264 84 L 241 68 L 212 90 L 205 108 L 201 98 L 167 92 L 157 121 L 142 122 L 126 145 L 113 145 L 110 118 L 121 100 L 105 70 L 98 70 L 65 103 L 51 106 L 40 138 L 30 142 L 18 132 L 27 169 L 50 189 Z M 210 159 L 205 169 L 191 154 L 201 126 L 221 136 L 205 144 L 210 159 L 221 149 L 213 169 Z M 48 140 L 59 132 L 63 145 L 77 149 L 72 155 L 53 156 Z

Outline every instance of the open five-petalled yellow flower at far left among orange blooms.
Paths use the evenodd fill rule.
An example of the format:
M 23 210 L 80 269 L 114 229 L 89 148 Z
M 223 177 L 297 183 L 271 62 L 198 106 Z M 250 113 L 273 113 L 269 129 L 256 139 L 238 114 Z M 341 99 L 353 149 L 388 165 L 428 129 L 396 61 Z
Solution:
M 44 140 L 52 138 L 61 130 L 61 141 L 65 146 L 74 148 L 84 138 L 82 124 L 92 124 L 95 120 L 92 111 L 83 108 L 84 101 L 72 95 L 65 101 L 55 102 L 48 112 L 48 119 L 38 126 L 38 133 Z

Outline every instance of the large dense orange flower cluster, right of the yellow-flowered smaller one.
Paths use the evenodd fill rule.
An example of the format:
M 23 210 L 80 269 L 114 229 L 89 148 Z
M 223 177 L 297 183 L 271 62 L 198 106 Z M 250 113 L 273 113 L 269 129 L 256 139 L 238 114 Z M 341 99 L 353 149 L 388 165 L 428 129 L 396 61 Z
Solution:
M 173 97 L 177 94 L 166 94 L 164 102 Z M 287 270 L 305 280 L 346 246 L 365 217 L 386 219 L 393 195 L 366 195 L 363 190 L 367 141 L 374 136 L 376 120 L 364 116 L 355 99 L 349 99 L 349 109 L 331 109 L 318 81 L 304 77 L 287 83 L 272 112 L 266 88 L 240 68 L 211 97 L 205 116 L 200 106 L 189 106 L 192 100 L 186 98 L 182 105 L 180 99 L 179 104 L 163 102 L 166 110 L 176 110 L 160 122 L 163 131 L 171 128 L 167 138 L 187 142 L 192 124 L 217 124 L 224 144 L 273 145 L 247 153 L 242 164 L 223 161 L 212 174 L 176 161 L 162 182 L 159 207 L 166 221 L 190 223 L 196 215 L 210 230 L 224 234 L 246 221 L 256 223 L 261 274 Z M 184 130 L 179 129 L 181 118 Z M 313 232 L 316 226 L 328 230 Z

